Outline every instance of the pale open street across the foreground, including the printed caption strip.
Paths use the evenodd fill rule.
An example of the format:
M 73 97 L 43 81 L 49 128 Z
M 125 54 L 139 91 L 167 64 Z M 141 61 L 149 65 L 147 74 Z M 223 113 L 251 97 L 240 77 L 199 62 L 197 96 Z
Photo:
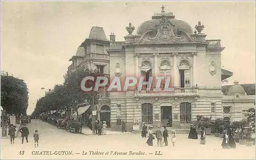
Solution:
M 221 147 L 222 139 L 212 135 L 206 136 L 206 145 L 200 145 L 200 140 L 187 139 L 187 134 L 178 134 L 175 147 L 170 138 L 167 147 L 156 147 L 157 140 L 150 147 L 146 144 L 147 139 L 134 133 L 107 133 L 101 136 L 74 134 L 40 120 L 32 120 L 28 128 L 29 143 L 25 141 L 22 144 L 20 134 L 13 145 L 10 139 L 1 139 L 2 159 L 255 159 L 255 146 L 237 144 L 237 149 L 224 150 Z M 33 140 L 35 129 L 39 132 L 37 148 Z

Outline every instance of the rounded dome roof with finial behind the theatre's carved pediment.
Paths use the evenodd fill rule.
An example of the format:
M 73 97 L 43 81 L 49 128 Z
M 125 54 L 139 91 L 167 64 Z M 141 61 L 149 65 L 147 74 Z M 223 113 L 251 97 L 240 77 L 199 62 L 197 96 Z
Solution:
M 146 32 L 156 29 L 156 25 L 159 24 L 160 20 L 163 17 L 167 17 L 168 20 L 170 20 L 172 24 L 175 25 L 174 26 L 175 34 L 177 33 L 178 29 L 185 31 L 187 34 L 193 33 L 193 29 L 187 22 L 175 19 L 175 15 L 172 12 L 166 13 L 164 11 L 164 7 L 162 6 L 161 13 L 155 13 L 152 16 L 152 20 L 147 20 L 142 22 L 142 24 L 137 29 L 137 35 L 144 35 Z

